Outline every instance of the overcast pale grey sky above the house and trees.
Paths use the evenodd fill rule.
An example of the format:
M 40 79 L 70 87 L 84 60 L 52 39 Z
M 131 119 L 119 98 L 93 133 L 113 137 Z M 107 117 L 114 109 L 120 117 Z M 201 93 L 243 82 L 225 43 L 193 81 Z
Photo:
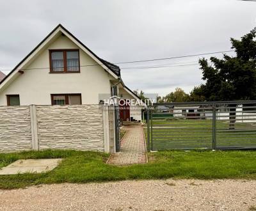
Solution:
M 239 39 L 256 27 L 256 2 L 0 0 L 0 70 L 8 74 L 58 24 L 112 63 L 170 58 L 229 51 L 231 37 Z M 202 57 L 119 66 L 131 90 L 163 96 L 176 87 L 189 93 L 203 83 Z

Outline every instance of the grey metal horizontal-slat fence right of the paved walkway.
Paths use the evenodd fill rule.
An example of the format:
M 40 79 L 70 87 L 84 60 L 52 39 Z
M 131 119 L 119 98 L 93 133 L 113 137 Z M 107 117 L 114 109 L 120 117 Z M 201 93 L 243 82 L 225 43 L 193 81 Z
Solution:
M 148 150 L 256 149 L 256 101 L 154 104 Z

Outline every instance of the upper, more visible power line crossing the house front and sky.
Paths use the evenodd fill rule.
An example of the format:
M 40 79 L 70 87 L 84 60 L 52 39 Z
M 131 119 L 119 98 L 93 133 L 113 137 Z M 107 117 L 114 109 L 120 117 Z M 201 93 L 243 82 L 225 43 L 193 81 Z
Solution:
M 129 63 L 142 63 L 142 62 L 147 62 L 147 61 L 162 61 L 162 60 L 168 60 L 168 59 L 178 59 L 178 58 L 188 58 L 188 57 L 193 57 L 193 56 L 204 56 L 204 55 L 209 55 L 209 54 L 221 54 L 225 52 L 234 52 L 234 51 L 218 51 L 218 52 L 209 52 L 209 53 L 204 53 L 204 54 L 191 54 L 191 55 L 186 55 L 186 56 L 175 56 L 175 57 L 168 57 L 168 58 L 157 58 L 157 59 L 145 59 L 145 60 L 138 60 L 138 61 L 124 61 L 124 62 L 118 62 L 118 63 L 113 63 L 114 65 L 120 65 L 120 64 L 129 64 Z M 95 65 L 78 65 L 78 66 L 103 66 L 104 64 L 95 64 Z M 68 66 L 68 67 L 78 67 L 78 66 Z M 20 68 L 17 70 L 42 70 L 42 69 L 49 69 L 50 67 L 42 67 L 42 68 Z M 59 67 L 58 68 L 64 68 Z M 12 71 L 8 69 L 3 69 L 0 71 Z

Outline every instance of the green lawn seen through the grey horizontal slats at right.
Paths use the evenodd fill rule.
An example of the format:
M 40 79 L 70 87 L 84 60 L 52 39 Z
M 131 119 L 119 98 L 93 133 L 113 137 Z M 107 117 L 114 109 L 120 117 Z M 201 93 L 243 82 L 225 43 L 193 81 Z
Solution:
M 153 150 L 212 148 L 212 120 L 154 119 L 152 140 Z M 256 148 L 256 124 L 234 123 L 231 127 L 227 120 L 216 121 L 216 146 Z

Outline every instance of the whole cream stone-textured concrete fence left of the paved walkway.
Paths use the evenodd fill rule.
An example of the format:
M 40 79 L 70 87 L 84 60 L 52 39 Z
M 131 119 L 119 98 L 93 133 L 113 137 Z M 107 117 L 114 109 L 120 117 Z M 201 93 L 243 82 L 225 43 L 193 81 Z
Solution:
M 0 106 L 0 152 L 115 152 L 113 111 L 102 105 Z

